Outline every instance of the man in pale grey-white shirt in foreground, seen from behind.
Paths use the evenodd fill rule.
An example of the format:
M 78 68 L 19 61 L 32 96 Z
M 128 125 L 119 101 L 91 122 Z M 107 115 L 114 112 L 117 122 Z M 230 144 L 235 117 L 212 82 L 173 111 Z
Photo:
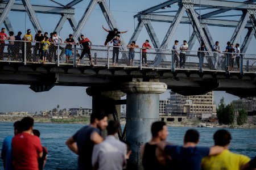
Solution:
M 115 138 L 119 129 L 117 121 L 109 121 L 105 141 L 93 147 L 92 165 L 98 170 L 122 170 L 126 167 L 127 146 Z

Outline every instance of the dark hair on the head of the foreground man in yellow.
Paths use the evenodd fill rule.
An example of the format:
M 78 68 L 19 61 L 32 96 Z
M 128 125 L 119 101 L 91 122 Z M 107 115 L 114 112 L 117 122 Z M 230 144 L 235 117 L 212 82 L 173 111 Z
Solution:
M 217 130 L 213 135 L 214 144 L 218 146 L 226 146 L 230 143 L 232 137 L 228 130 Z

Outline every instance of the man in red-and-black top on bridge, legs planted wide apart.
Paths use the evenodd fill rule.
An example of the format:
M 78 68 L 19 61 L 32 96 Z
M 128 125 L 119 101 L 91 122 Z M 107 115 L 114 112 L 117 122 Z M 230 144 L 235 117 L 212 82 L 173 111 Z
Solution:
M 88 39 L 88 38 L 84 38 L 84 35 L 81 35 L 81 41 L 79 41 L 79 43 L 77 43 L 77 45 L 82 44 L 82 47 L 84 49 L 82 49 L 82 54 L 79 57 L 79 61 L 76 63 L 76 65 L 78 65 L 81 62 L 82 57 L 84 57 L 84 55 L 87 53 L 89 60 L 90 60 L 90 66 L 93 66 L 93 62 L 92 62 L 92 54 L 90 54 L 90 49 L 92 48 L 92 42 Z M 90 45 L 89 45 L 90 43 Z

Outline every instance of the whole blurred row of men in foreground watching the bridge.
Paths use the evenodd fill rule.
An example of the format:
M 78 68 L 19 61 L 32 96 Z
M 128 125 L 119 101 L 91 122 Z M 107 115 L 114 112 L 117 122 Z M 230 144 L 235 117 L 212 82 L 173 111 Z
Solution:
M 1 158 L 4 169 L 43 169 L 48 151 L 40 142 L 40 132 L 33 126 L 31 117 L 14 123 L 14 136 L 8 136 L 3 141 Z M 144 170 L 256 168 L 256 157 L 250 160 L 245 155 L 229 151 L 232 141 L 229 131 L 217 130 L 213 135 L 214 146 L 201 147 L 197 146 L 199 132 L 189 129 L 184 135 L 183 145 L 173 145 L 166 142 L 168 129 L 163 121 L 152 123 L 152 138 L 141 145 L 141 159 L 134 164 L 130 160 L 133 154 L 131 144 L 116 137 L 119 126 L 117 121 L 108 121 L 105 113 L 91 114 L 90 125 L 82 127 L 66 141 L 68 148 L 79 156 L 77 169 L 134 170 L 139 168 L 140 162 Z M 108 135 L 104 139 L 101 131 L 105 129 Z

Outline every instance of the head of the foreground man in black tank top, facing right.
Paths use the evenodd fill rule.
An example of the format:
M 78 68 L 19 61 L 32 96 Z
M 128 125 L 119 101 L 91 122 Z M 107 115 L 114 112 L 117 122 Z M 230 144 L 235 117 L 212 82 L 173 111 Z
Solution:
M 168 129 L 166 126 L 166 122 L 162 122 L 162 121 L 154 122 L 151 125 L 151 134 L 153 138 L 158 137 L 160 138 L 161 141 L 166 140 L 168 136 Z

